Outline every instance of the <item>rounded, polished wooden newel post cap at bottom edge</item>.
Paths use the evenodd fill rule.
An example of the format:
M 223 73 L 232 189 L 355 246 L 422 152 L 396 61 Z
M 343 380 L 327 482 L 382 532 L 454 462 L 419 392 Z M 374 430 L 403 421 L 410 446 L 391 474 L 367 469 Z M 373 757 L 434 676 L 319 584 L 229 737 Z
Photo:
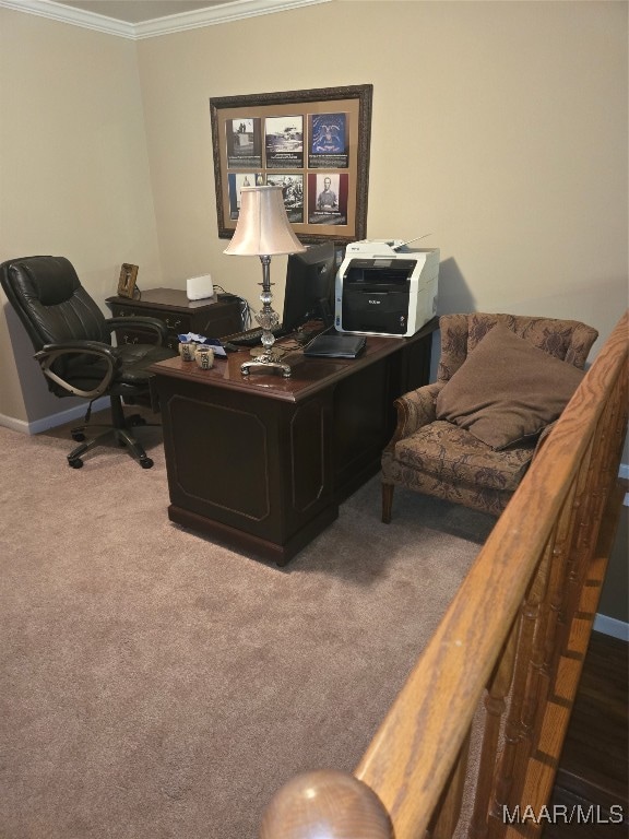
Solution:
M 305 772 L 275 794 L 260 839 L 393 839 L 380 799 L 366 783 L 334 770 Z

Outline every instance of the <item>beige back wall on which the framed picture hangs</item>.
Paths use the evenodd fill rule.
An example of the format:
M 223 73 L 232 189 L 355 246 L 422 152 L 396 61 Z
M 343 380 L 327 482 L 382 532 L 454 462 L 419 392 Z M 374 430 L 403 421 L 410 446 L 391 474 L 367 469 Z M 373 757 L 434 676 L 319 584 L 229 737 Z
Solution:
M 257 302 L 259 265 L 216 236 L 209 98 L 369 82 L 368 236 L 432 233 L 441 311 L 604 338 L 627 306 L 627 4 L 331 2 L 138 55 L 169 283 L 212 271 Z

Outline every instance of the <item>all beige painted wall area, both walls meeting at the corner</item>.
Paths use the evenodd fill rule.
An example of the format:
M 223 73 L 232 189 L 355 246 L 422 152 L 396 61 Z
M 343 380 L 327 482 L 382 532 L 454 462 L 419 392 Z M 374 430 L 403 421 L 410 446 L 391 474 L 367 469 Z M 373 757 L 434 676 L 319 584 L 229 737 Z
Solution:
M 368 236 L 432 234 L 441 312 L 579 318 L 596 352 L 627 306 L 626 3 L 335 0 L 137 43 L 0 24 L 0 258 L 69 256 L 104 310 L 123 261 L 257 305 L 257 260 L 216 235 L 209 99 L 361 83 Z M 59 403 L 11 319 L 0 415 L 33 421 Z

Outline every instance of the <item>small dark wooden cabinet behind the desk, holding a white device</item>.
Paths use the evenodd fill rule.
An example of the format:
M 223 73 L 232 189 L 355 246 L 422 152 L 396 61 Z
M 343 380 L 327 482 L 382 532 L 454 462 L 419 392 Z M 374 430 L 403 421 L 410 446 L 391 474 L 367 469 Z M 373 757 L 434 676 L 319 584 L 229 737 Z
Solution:
M 186 292 L 178 288 L 149 288 L 140 299 L 108 297 L 107 306 L 115 318 L 142 316 L 157 318 L 168 328 L 167 345 L 177 350 L 177 335 L 197 332 L 205 338 L 221 338 L 242 329 L 240 300 L 232 295 L 207 297 L 204 300 L 189 300 Z M 154 334 L 141 329 L 118 329 L 116 338 L 120 343 L 152 343 Z

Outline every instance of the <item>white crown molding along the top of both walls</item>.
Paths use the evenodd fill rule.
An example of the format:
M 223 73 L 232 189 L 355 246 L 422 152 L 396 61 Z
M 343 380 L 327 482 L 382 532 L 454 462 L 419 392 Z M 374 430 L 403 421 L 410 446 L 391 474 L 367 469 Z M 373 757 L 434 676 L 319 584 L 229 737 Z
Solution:
M 246 17 L 258 17 L 261 14 L 285 12 L 306 5 L 329 3 L 332 0 L 233 0 L 219 7 L 210 7 L 195 12 L 182 12 L 167 17 L 156 17 L 142 23 L 126 23 L 103 14 L 94 14 L 82 9 L 57 3 L 55 0 L 0 0 L 0 7 L 17 12 L 49 17 L 60 23 L 83 26 L 87 29 L 117 35 L 122 38 L 139 40 L 157 35 L 170 35 L 175 32 L 195 29 L 201 26 L 213 26 L 219 23 L 230 23 Z

